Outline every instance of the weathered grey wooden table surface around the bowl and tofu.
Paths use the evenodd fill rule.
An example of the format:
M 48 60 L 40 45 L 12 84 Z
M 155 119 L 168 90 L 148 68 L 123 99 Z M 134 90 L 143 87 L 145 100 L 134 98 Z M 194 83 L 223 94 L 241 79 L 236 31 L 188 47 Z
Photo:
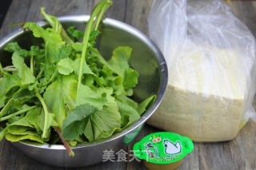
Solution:
M 55 16 L 69 14 L 90 14 L 99 0 L 13 0 L 0 30 L 0 38 L 17 28 L 10 28 L 11 23 L 35 22 L 42 19 L 39 9 L 46 7 L 46 12 Z M 0 2 L 2 3 L 2 2 Z M 131 26 L 148 33 L 146 17 L 150 10 L 152 0 L 114 0 L 113 6 L 106 12 L 106 17 L 126 22 Z M 242 22 L 256 35 L 256 2 L 228 1 Z M 144 126 L 134 141 L 141 140 L 143 136 L 159 130 L 149 125 Z M 126 148 L 127 152 L 134 142 Z M 238 136 L 231 141 L 221 143 L 195 143 L 191 152 L 179 170 L 182 169 L 256 169 L 256 124 L 252 121 L 242 128 Z M 39 163 L 36 160 L 19 152 L 9 142 L 0 143 L 0 170 L 4 169 L 68 169 L 56 168 Z M 142 163 L 134 160 L 131 162 L 106 162 L 86 168 L 72 169 L 146 169 Z

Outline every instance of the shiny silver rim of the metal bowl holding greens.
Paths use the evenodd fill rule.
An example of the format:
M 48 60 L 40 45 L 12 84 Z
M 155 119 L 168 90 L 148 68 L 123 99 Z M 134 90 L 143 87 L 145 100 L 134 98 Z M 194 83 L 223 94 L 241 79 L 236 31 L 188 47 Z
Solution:
M 60 22 L 87 22 L 90 18 L 90 15 L 66 15 L 62 17 L 58 17 L 58 20 Z M 39 26 L 47 26 L 47 22 L 45 20 L 36 22 Z M 168 71 L 167 71 L 167 66 L 166 66 L 166 61 L 165 58 L 163 57 L 160 49 L 158 49 L 158 46 L 155 45 L 155 43 L 150 40 L 146 36 L 146 34 L 142 33 L 140 30 L 134 28 L 133 26 L 130 26 L 124 22 L 120 22 L 118 20 L 112 19 L 112 18 L 105 18 L 103 20 L 103 23 L 106 25 L 118 27 L 118 29 L 121 30 L 126 30 L 126 32 L 133 34 L 136 38 L 139 38 L 142 40 L 142 42 L 146 43 L 154 51 L 156 57 L 158 58 L 158 63 L 159 66 L 161 67 L 161 77 L 162 77 L 162 83 L 160 85 L 160 90 L 158 93 L 158 96 L 156 100 L 154 101 L 154 104 L 150 107 L 149 110 L 146 111 L 142 115 L 142 117 L 134 122 L 133 125 L 130 125 L 130 127 L 122 130 L 121 132 L 116 133 L 113 136 L 110 136 L 106 139 L 103 140 L 97 140 L 94 142 L 88 142 L 86 144 L 82 144 L 82 146 L 77 146 L 75 148 L 72 148 L 73 150 L 77 150 L 79 148 L 84 148 L 84 147 L 93 147 L 93 146 L 98 146 L 101 144 L 105 144 L 108 142 L 111 142 L 112 140 L 116 140 L 122 136 L 125 136 L 127 133 L 133 131 L 135 128 L 138 128 L 140 125 L 143 125 L 146 120 L 158 109 L 158 106 L 160 105 L 165 93 L 166 93 L 166 88 L 167 88 L 167 82 L 168 82 Z M 18 35 L 21 35 L 25 32 L 22 28 L 19 28 L 18 30 L 15 30 L 11 32 L 10 34 L 7 34 L 6 37 L 2 38 L 0 40 L 0 48 L 3 45 L 6 45 L 6 42 L 10 42 L 13 38 L 17 37 Z M 30 147 L 34 148 L 42 148 L 42 149 L 52 149 L 52 150 L 64 150 L 66 149 L 62 144 L 42 144 L 42 145 L 34 145 L 34 144 L 26 144 L 22 142 L 18 142 L 19 144 L 24 144 Z

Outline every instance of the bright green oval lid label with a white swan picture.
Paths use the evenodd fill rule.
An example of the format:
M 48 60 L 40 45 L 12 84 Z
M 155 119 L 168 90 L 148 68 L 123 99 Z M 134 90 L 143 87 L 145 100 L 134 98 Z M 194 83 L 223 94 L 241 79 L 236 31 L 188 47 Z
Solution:
M 190 138 L 173 132 L 156 132 L 134 144 L 134 155 L 155 164 L 169 164 L 181 160 L 192 152 Z

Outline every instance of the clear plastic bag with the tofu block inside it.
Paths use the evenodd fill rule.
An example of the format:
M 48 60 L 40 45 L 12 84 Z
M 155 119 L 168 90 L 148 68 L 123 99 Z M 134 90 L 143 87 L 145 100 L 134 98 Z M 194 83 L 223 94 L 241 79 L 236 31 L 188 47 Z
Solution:
M 148 124 L 221 141 L 255 120 L 255 40 L 229 6 L 154 0 L 148 22 L 169 69 L 166 97 Z

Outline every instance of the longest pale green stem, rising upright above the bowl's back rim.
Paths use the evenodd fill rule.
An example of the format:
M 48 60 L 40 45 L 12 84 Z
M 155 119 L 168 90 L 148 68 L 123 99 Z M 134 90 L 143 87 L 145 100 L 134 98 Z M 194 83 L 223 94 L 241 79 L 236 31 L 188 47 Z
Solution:
M 98 15 L 99 12 L 101 12 L 102 7 L 104 6 L 111 6 L 112 1 L 110 0 L 104 0 L 102 2 L 99 2 L 98 5 L 94 8 L 92 14 L 90 15 L 89 22 L 86 24 L 86 30 L 82 41 L 82 57 L 80 61 L 80 68 L 78 73 L 78 89 L 77 89 L 77 96 L 80 90 L 81 82 L 82 82 L 82 69 L 84 62 L 86 61 L 86 49 L 88 46 L 89 38 L 90 38 L 90 31 L 92 30 L 93 24 L 94 24 L 94 18 Z

